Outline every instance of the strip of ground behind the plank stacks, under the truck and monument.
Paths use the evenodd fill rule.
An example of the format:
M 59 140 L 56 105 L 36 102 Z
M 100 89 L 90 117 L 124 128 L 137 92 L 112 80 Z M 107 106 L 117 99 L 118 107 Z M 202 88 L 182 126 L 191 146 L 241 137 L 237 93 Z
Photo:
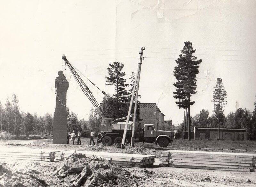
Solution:
M 1 146 L 26 146 L 32 148 L 54 148 L 65 150 L 85 150 L 85 151 L 102 151 L 112 153 L 129 153 L 142 155 L 156 155 L 156 158 L 161 157 L 161 152 L 164 150 L 195 150 L 195 151 L 219 151 L 219 152 L 244 152 L 256 153 L 256 141 L 218 141 L 218 140 L 174 140 L 173 146 L 159 147 L 154 143 L 135 143 L 135 147 L 125 146 L 120 149 L 115 145 L 103 146 L 101 143 L 98 146 L 90 145 L 90 138 L 81 138 L 82 145 L 56 145 L 52 144 L 52 139 L 43 140 L 0 140 Z M 96 140 L 95 140 L 96 142 Z M 75 143 L 77 143 L 75 141 Z

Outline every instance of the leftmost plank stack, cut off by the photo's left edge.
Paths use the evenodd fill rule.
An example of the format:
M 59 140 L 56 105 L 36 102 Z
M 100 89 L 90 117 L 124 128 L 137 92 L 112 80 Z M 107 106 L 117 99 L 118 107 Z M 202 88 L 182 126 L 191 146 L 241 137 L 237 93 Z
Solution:
M 54 150 L 16 147 L 0 147 L 0 159 L 53 161 Z

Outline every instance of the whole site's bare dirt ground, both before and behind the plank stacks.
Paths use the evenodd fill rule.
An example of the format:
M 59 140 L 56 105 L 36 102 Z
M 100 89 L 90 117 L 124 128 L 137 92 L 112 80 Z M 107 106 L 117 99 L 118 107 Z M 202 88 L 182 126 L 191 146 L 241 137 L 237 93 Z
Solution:
M 65 150 L 103 151 L 112 153 L 147 154 L 161 157 L 163 150 L 202 150 L 220 152 L 256 153 L 254 141 L 217 141 L 217 140 L 174 140 L 173 147 L 162 148 L 155 144 L 135 143 L 135 147 L 126 146 L 124 149 L 116 146 L 92 146 L 89 138 L 82 138 L 82 145 L 54 145 L 52 139 L 42 140 L 0 140 L 1 147 L 32 147 Z M 219 150 L 218 150 L 219 149 Z M 90 177 L 82 185 L 93 186 L 100 181 L 101 186 L 256 186 L 256 172 L 218 171 L 205 169 L 183 169 L 159 167 L 158 159 L 153 168 L 121 168 L 108 161 L 100 160 L 106 168 L 94 167 L 95 160 L 82 158 L 79 155 L 68 162 L 68 167 L 88 164 Z M 88 160 L 89 159 L 89 160 Z M 66 161 L 62 161 L 66 162 Z M 62 162 L 39 162 L 23 160 L 0 160 L 0 186 L 70 186 L 76 182 L 78 174 L 59 176 L 53 174 L 61 167 Z M 79 163 L 78 163 L 79 162 Z M 104 164 L 105 163 L 105 164 Z M 100 173 L 118 173 L 115 177 L 104 178 Z M 118 171 L 118 172 L 117 172 Z M 5 173 L 5 174 L 4 174 Z M 6 174 L 7 173 L 7 174 Z M 9 174 L 8 174 L 9 173 Z M 106 175 L 105 175 L 106 176 Z M 112 176 L 112 175 L 111 175 Z M 34 185 L 34 183 L 36 185 Z

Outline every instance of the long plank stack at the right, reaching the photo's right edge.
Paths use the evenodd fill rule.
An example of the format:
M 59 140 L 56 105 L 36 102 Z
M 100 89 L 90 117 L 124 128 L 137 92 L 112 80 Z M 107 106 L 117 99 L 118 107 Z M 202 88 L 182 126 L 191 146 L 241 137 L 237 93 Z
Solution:
M 160 161 L 167 167 L 254 171 L 256 154 L 169 150 Z

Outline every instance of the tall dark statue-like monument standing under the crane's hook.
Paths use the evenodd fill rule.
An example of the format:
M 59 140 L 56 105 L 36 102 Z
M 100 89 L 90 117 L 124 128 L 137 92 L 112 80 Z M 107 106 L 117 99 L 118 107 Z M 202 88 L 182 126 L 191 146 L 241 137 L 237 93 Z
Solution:
M 55 79 L 56 107 L 53 115 L 53 144 L 67 144 L 68 114 L 67 90 L 68 81 L 63 71 L 58 72 Z

